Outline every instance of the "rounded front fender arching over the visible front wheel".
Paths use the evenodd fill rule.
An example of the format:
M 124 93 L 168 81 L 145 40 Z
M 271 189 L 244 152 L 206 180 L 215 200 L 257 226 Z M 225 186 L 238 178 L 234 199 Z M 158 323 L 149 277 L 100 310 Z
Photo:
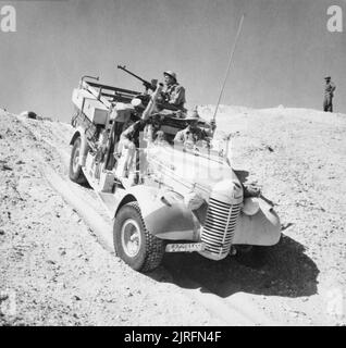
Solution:
M 169 240 L 199 239 L 200 224 L 183 200 L 169 203 L 163 197 L 163 190 L 155 187 L 138 185 L 131 187 L 119 200 L 115 209 L 129 201 L 136 200 L 140 207 L 141 216 L 148 231 L 158 238 Z

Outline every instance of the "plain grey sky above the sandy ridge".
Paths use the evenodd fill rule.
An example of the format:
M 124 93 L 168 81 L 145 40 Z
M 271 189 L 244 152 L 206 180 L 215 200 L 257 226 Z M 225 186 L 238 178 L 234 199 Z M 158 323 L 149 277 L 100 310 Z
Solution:
M 215 104 L 243 13 L 245 21 L 222 104 L 321 110 L 324 77 L 346 113 L 345 0 L 0 1 L 16 11 L 16 32 L 0 30 L 0 108 L 69 122 L 82 75 L 141 90 L 116 69 L 146 79 L 176 72 L 187 107 Z M 331 5 L 343 33 L 326 28 Z M 1 14 L 0 14 L 1 21 Z

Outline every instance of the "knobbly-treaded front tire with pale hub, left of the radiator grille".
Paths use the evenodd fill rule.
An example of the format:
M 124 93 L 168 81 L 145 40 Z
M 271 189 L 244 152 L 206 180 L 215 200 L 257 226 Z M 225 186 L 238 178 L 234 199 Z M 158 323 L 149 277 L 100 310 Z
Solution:
M 115 254 L 135 271 L 155 270 L 164 254 L 164 241 L 146 228 L 137 202 L 120 209 L 114 220 L 113 241 Z

